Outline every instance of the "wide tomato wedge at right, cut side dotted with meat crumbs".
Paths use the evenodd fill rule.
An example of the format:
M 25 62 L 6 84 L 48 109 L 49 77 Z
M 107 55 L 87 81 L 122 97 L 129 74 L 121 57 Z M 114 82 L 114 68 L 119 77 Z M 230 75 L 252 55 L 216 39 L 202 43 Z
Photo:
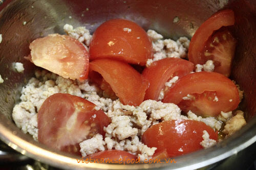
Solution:
M 178 104 L 183 111 L 217 116 L 221 111 L 228 112 L 238 107 L 239 93 L 237 86 L 227 77 L 217 72 L 201 71 L 179 79 L 165 93 L 163 102 Z

